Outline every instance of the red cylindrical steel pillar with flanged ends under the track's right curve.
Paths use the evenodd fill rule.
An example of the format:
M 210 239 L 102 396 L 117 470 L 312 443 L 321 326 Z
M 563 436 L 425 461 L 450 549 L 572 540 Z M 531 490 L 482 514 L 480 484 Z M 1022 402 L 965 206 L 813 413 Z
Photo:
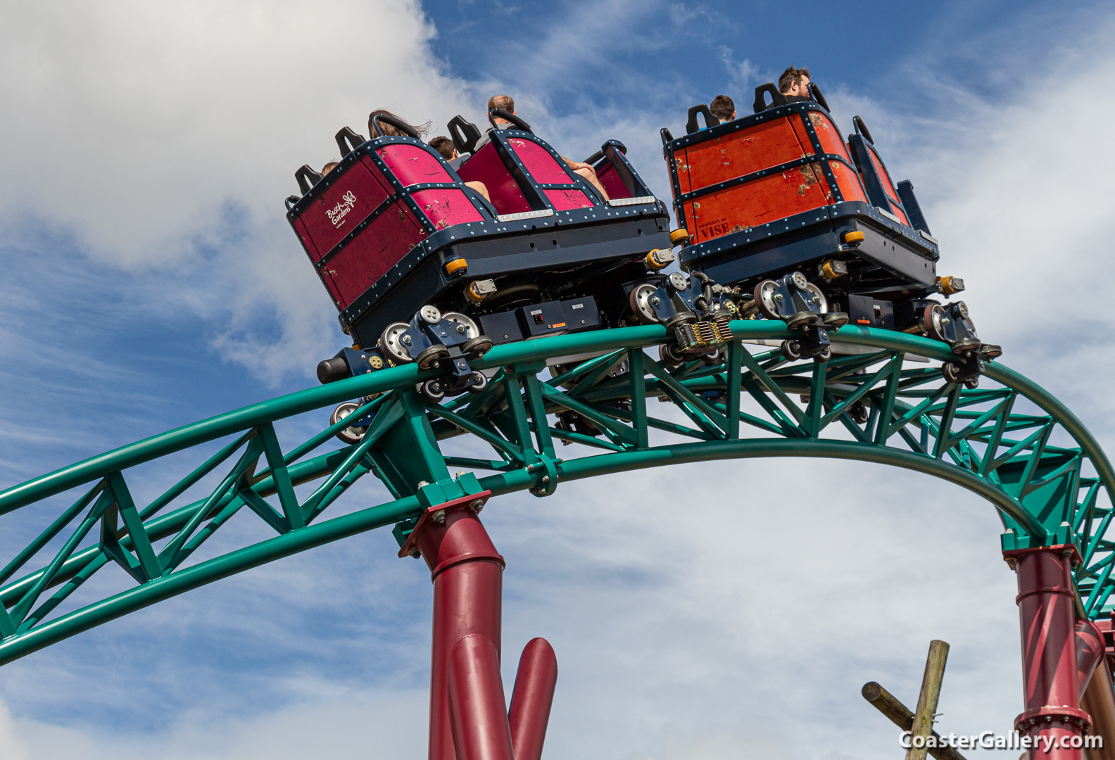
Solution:
M 1076 608 L 1073 545 L 1004 552 L 1018 575 L 1018 614 L 1022 634 L 1022 686 L 1026 710 L 1015 719 L 1024 737 L 1037 738 L 1043 760 L 1082 760 L 1083 735 L 1092 720 L 1080 709 L 1076 664 Z M 1048 752 L 1046 752 L 1046 748 Z

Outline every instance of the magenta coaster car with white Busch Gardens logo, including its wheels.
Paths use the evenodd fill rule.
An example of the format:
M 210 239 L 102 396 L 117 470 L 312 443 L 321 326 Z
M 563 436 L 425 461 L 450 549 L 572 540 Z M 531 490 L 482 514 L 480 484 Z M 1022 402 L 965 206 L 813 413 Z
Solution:
M 495 128 L 496 117 L 511 128 Z M 442 370 L 420 386 L 433 400 L 478 391 L 487 380 L 469 362 L 493 343 L 615 323 L 624 284 L 673 261 L 666 205 L 621 143 L 588 160 L 605 199 L 530 125 L 498 110 L 489 119 L 483 140 L 450 121 L 464 153 L 452 163 L 417 136 L 365 140 L 345 128 L 336 168 L 295 173 L 302 195 L 288 198 L 288 218 L 356 339 L 321 362 L 322 382 L 374 371 L 374 358 Z M 413 316 L 394 322 L 399 314 Z

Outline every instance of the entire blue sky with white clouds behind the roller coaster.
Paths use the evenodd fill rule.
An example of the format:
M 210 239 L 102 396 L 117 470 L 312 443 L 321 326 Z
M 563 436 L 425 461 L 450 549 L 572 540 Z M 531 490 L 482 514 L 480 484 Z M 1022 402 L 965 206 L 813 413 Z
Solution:
M 1115 159 L 1089 126 L 1115 116 L 1109 6 L 120 0 L 3 19 L 4 486 L 314 382 L 342 335 L 282 198 L 372 107 L 444 125 L 510 92 L 565 155 L 622 139 L 668 197 L 658 128 L 718 92 L 746 110 L 789 64 L 914 181 L 1004 361 L 1115 442 L 1096 380 Z M 795 508 L 767 508 L 786 480 Z M 950 730 L 1006 731 L 1021 709 L 1014 577 L 966 493 L 720 462 L 484 514 L 508 558 L 508 662 L 534 635 L 558 650 L 547 757 L 892 757 L 859 688 L 913 701 L 932 637 L 953 646 Z M 10 517 L 3 556 L 42 515 Z M 262 535 L 229 530 L 214 550 Z M 317 549 L 0 669 L 0 757 L 420 756 L 429 585 L 392 545 Z

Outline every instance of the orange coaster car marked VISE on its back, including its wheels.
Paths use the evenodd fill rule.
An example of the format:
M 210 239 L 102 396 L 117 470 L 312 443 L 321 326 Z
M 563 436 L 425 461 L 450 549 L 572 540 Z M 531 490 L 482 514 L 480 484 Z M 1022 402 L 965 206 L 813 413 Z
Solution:
M 787 341 L 787 358 L 826 357 L 827 329 L 846 322 L 920 332 L 952 347 L 958 359 L 942 371 L 971 384 L 1001 350 L 979 341 L 962 302 L 927 298 L 963 283 L 937 276 L 937 241 L 913 185 L 895 189 L 859 116 L 845 145 L 824 96 L 811 91 L 813 100 L 791 103 L 764 85 L 752 116 L 719 124 L 695 106 L 685 137 L 661 130 L 675 211 L 691 236 L 682 269 L 753 291 L 745 316 L 801 329 L 807 338 Z

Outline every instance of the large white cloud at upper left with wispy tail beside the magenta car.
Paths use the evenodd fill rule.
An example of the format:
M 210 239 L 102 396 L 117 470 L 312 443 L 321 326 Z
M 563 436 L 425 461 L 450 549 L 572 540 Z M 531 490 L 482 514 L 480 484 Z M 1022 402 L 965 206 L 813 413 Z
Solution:
M 375 107 L 435 125 L 476 110 L 414 1 L 122 0 L 4 17 L 0 228 L 69 231 L 96 261 L 154 270 L 136 300 L 221 315 L 221 355 L 272 380 L 342 338 L 285 222 L 294 169 L 334 158 L 333 134 L 366 133 Z

